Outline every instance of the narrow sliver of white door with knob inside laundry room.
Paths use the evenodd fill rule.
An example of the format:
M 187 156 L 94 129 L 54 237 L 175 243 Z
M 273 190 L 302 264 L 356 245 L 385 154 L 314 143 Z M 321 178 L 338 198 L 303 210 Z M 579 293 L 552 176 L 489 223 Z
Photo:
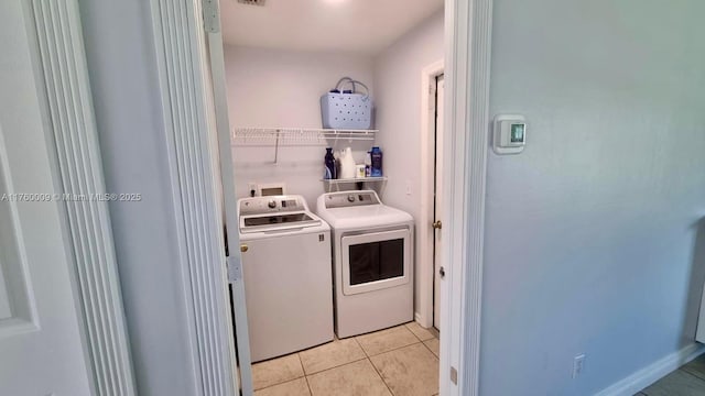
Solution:
M 443 75 L 436 77 L 436 130 L 435 130 L 435 177 L 434 177 L 434 223 L 443 217 Z M 433 327 L 441 330 L 441 229 L 434 227 L 433 239 Z

